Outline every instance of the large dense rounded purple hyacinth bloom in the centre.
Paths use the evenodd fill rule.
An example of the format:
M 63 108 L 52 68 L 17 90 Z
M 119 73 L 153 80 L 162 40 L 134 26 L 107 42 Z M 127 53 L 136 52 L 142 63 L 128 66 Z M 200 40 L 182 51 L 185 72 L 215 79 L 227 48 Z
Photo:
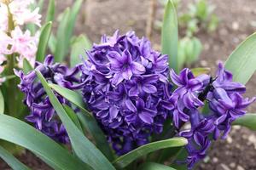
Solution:
M 133 31 L 102 37 L 80 66 L 84 101 L 113 144 L 123 155 L 161 133 L 170 112 L 163 107 L 171 96 L 167 56 L 151 48 Z

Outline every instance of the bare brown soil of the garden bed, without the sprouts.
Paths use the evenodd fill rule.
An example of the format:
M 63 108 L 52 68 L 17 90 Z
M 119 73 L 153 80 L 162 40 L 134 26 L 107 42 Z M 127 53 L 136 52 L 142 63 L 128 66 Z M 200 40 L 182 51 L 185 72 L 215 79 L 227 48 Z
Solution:
M 214 11 L 221 20 L 218 30 L 212 33 L 199 31 L 204 49 L 201 60 L 195 66 L 216 68 L 219 60 L 224 61 L 236 46 L 256 29 L 256 1 L 253 0 L 208 0 L 216 6 Z M 46 1 L 47 2 L 47 1 Z M 182 11 L 186 11 L 192 0 L 181 0 Z M 70 6 L 72 0 L 56 0 L 58 12 Z M 143 37 L 148 18 L 149 0 L 87 0 L 84 2 L 75 28 L 75 34 L 86 33 L 92 42 L 99 42 L 102 34 L 112 35 L 119 29 L 136 31 Z M 46 7 L 46 5 L 45 5 Z M 162 6 L 157 5 L 157 20 L 160 20 Z M 180 11 L 178 11 L 180 12 Z M 160 47 L 160 31 L 153 31 L 152 42 L 155 48 Z M 256 66 L 256 65 L 255 65 Z M 247 83 L 247 96 L 256 94 L 256 74 Z M 256 113 L 256 104 L 248 109 Z M 245 127 L 234 127 L 226 140 L 212 144 L 207 158 L 196 169 L 200 170 L 255 170 L 256 169 L 256 133 Z M 20 156 L 21 161 L 32 169 L 50 169 L 38 161 L 30 152 Z M 8 169 L 0 164 L 1 169 Z

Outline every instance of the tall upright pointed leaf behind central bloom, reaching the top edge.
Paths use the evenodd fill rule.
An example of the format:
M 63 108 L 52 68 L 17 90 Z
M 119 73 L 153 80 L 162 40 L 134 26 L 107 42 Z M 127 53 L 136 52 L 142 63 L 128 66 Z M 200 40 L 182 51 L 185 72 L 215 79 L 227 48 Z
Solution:
M 169 55 L 169 65 L 174 71 L 178 71 L 177 65 L 177 13 L 172 1 L 166 4 L 163 26 L 161 31 L 162 54 Z

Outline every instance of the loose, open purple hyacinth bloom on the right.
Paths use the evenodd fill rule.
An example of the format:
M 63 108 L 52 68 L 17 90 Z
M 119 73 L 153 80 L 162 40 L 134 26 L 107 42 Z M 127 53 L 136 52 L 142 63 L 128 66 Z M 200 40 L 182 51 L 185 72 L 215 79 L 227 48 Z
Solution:
M 239 82 L 232 81 L 232 74 L 218 65 L 217 77 L 207 75 L 194 77 L 189 69 L 183 69 L 180 75 L 171 71 L 172 82 L 177 85 L 169 101 L 169 110 L 173 111 L 174 125 L 190 122 L 191 129 L 180 133 L 189 140 L 187 163 L 192 168 L 195 162 L 206 156 L 211 138 L 226 138 L 231 123 L 243 116 L 243 111 L 253 99 L 244 99 L 246 88 Z M 201 113 L 204 102 L 209 104 L 207 114 Z

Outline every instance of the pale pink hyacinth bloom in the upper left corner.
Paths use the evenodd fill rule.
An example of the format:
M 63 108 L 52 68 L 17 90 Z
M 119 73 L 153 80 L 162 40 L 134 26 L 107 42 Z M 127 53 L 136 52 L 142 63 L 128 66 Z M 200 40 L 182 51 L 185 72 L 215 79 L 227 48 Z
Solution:
M 15 54 L 18 65 L 22 67 L 26 58 L 32 65 L 38 50 L 38 32 L 35 35 L 28 30 L 22 31 L 22 26 L 31 23 L 40 26 L 39 8 L 30 9 L 32 0 L 2 0 L 0 1 L 0 74 L 6 55 Z M 2 82 L 0 79 L 0 82 Z

